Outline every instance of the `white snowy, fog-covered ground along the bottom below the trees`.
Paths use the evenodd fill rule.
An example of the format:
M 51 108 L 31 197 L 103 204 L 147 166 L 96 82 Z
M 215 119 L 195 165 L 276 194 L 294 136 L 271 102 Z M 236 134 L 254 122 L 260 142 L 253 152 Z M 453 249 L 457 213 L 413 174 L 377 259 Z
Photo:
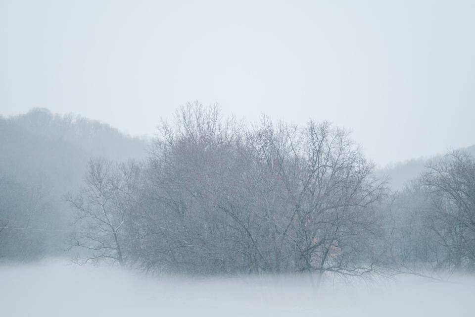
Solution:
M 474 316 L 475 278 L 329 281 L 305 276 L 185 279 L 59 262 L 0 266 L 1 317 Z

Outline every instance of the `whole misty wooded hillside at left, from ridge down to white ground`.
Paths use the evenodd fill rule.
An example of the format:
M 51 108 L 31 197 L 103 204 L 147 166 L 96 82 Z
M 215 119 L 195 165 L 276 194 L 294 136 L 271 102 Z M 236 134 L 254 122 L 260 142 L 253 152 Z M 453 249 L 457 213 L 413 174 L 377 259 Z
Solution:
M 61 254 L 73 215 L 64 195 L 82 186 L 88 160 L 143 159 L 147 149 L 143 139 L 80 116 L 43 108 L 0 116 L 0 260 Z

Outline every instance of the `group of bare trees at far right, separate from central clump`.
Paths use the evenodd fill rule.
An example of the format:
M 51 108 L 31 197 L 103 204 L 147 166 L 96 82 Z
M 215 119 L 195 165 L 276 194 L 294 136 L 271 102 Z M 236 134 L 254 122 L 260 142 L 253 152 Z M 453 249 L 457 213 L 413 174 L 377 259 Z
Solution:
M 391 264 L 475 270 L 475 159 L 468 153 L 429 162 L 382 211 Z

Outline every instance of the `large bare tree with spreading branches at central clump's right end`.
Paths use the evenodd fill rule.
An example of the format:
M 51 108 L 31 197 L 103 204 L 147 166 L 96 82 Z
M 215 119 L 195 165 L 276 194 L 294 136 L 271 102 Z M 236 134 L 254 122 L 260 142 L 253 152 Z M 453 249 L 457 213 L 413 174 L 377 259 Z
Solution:
M 372 175 L 373 165 L 348 133 L 325 122 L 298 129 L 264 118 L 256 135 L 256 152 L 285 189 L 288 209 L 273 221 L 280 245 L 287 241 L 297 251 L 295 269 L 350 275 L 374 270 L 372 261 L 359 267 L 356 255 L 363 254 L 361 239 L 371 239 L 370 207 L 384 193 L 384 182 Z

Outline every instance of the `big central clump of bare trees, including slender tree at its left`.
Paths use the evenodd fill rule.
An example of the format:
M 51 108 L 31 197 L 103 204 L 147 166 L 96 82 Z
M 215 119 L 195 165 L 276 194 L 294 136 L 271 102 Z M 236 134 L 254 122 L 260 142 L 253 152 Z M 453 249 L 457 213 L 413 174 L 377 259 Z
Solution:
M 383 182 L 328 123 L 263 117 L 247 129 L 188 105 L 161 126 L 140 181 L 112 165 L 91 161 L 86 189 L 70 198 L 88 235 L 101 237 L 74 240 L 87 244 L 85 261 L 191 273 L 353 275 L 379 265 L 371 246 Z

